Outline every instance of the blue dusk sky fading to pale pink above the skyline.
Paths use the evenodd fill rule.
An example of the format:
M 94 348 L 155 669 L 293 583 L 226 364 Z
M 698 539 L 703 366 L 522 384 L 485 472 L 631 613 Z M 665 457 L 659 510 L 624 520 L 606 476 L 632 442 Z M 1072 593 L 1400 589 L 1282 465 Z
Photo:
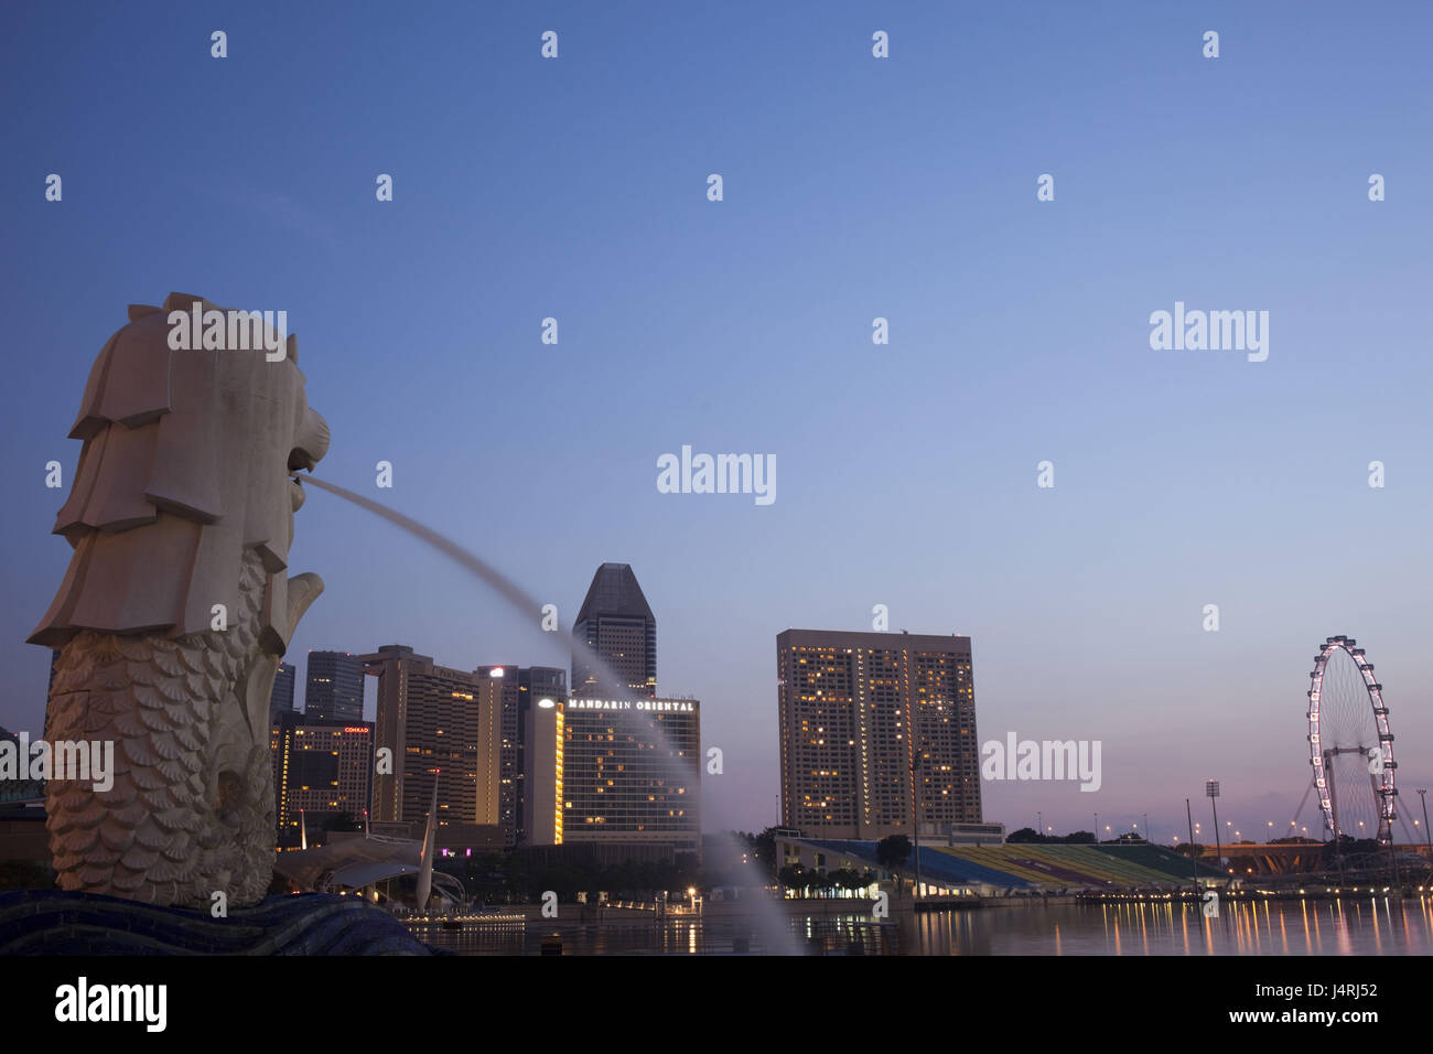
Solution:
M 1168 839 L 1218 777 L 1221 819 L 1287 826 L 1337 632 L 1386 685 L 1406 806 L 1433 780 L 1427 6 L 294 7 L 6 9 L 0 724 L 43 716 L 23 640 L 69 556 L 43 466 L 69 479 L 125 305 L 182 290 L 287 310 L 321 475 L 563 630 L 598 564 L 633 565 L 659 687 L 725 751 L 708 829 L 775 820 L 775 634 L 874 604 L 973 638 L 982 740 L 1103 741 L 1099 793 L 987 783 L 992 820 Z M 1176 300 L 1267 310 L 1268 361 L 1152 351 Z M 658 493 L 684 443 L 775 455 L 775 503 Z M 566 664 L 330 495 L 291 555 L 328 584 L 301 675 L 394 641 Z

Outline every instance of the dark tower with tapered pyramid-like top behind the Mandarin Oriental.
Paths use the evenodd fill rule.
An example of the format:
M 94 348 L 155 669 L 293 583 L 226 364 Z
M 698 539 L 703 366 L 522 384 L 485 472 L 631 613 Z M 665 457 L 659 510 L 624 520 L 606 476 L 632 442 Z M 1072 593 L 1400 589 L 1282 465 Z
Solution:
M 598 568 L 572 635 L 573 695 L 656 697 L 656 618 L 629 565 Z M 606 671 L 592 661 L 593 651 L 602 657 Z

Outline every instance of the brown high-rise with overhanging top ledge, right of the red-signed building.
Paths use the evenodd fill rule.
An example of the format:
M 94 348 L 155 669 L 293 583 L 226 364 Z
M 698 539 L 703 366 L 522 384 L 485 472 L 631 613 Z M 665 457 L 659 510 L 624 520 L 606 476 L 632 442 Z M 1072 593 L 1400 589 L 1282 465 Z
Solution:
M 375 766 L 373 817 L 421 820 L 436 780 L 440 826 L 496 826 L 500 721 L 492 704 L 479 703 L 484 677 L 436 665 L 403 644 L 384 645 L 360 661 L 378 678 L 374 749 L 391 757 L 391 771 Z

